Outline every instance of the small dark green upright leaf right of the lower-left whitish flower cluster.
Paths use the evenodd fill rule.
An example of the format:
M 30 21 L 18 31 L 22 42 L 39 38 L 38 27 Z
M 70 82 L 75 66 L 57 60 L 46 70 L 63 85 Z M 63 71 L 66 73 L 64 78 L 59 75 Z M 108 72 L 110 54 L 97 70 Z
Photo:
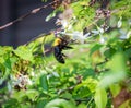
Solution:
M 41 75 L 40 77 L 40 86 L 43 87 L 45 92 L 48 92 L 48 81 L 47 81 L 46 74 Z

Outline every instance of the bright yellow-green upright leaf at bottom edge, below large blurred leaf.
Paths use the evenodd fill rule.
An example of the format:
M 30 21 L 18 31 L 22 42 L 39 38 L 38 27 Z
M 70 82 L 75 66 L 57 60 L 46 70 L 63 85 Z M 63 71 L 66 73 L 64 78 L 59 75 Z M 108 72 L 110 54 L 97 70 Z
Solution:
M 97 108 L 105 108 L 106 104 L 107 104 L 107 93 L 105 91 L 105 88 L 97 88 L 95 96 L 95 104 L 97 106 Z

